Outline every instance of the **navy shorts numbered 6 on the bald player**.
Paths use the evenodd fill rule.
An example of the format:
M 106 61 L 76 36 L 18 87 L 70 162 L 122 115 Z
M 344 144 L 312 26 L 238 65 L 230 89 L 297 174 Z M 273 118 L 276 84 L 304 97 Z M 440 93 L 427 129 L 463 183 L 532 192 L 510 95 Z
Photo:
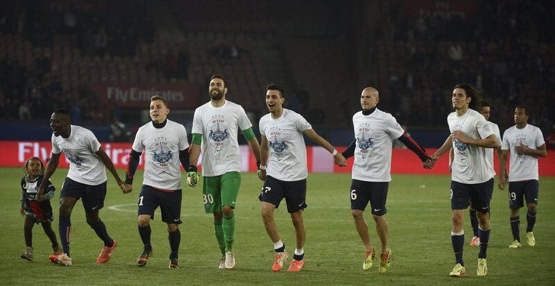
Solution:
M 365 210 L 368 201 L 372 214 L 382 216 L 387 213 L 386 201 L 389 182 L 366 182 L 351 180 L 351 210 Z

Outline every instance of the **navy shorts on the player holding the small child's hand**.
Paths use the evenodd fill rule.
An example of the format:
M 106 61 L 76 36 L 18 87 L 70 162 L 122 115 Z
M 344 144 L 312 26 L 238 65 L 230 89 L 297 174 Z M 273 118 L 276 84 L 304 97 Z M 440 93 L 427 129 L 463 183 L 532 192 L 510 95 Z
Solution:
M 60 192 L 60 198 L 71 197 L 81 199 L 85 210 L 100 210 L 104 207 L 106 197 L 106 182 L 100 185 L 86 185 L 70 178 L 65 178 Z

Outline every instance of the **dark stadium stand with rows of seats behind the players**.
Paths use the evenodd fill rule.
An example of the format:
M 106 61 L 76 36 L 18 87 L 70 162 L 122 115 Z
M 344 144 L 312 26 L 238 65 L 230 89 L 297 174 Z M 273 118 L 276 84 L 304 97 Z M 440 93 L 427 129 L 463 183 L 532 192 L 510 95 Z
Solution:
M 68 108 L 76 121 L 108 125 L 122 111 L 95 85 L 190 83 L 204 99 L 218 72 L 230 100 L 256 116 L 273 81 L 325 128 L 348 129 L 356 94 L 374 85 L 380 107 L 411 131 L 439 130 L 459 82 L 484 91 L 502 129 L 522 103 L 545 134 L 555 124 L 554 35 L 542 28 L 555 12 L 537 1 L 112 2 L 0 4 L 0 120 Z

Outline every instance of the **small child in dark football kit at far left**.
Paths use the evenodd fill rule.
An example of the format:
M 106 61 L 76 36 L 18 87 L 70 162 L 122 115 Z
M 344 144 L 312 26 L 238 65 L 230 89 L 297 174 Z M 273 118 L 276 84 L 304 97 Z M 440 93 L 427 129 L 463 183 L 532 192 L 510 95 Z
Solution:
M 20 211 L 25 217 L 24 233 L 27 249 L 22 253 L 21 258 L 33 261 L 33 226 L 39 223 L 42 224 L 44 233 L 46 233 L 50 242 L 52 242 L 54 254 L 60 255 L 62 251 L 50 223 L 54 220 L 50 199 L 54 196 L 55 187 L 49 180 L 48 185 L 44 188 L 44 201 L 39 202 L 35 196 L 37 195 L 37 187 L 40 185 L 44 174 L 42 160 L 37 157 L 29 158 L 25 165 L 23 165 L 23 171 L 25 174 L 22 178 L 23 192 L 22 199 L 19 202 L 21 203 Z

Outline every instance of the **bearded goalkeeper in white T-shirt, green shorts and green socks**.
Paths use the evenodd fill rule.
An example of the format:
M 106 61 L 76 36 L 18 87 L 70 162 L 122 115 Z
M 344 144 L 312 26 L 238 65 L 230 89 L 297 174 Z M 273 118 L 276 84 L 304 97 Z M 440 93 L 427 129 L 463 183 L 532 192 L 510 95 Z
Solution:
M 196 162 L 203 151 L 203 201 L 205 212 L 214 214 L 214 233 L 221 251 L 220 269 L 233 269 L 235 257 L 235 217 L 233 210 L 241 186 L 241 156 L 237 143 L 240 128 L 259 162 L 258 141 L 245 110 L 225 100 L 228 84 L 221 74 L 214 74 L 208 87 L 210 101 L 196 108 L 193 117 L 193 140 L 189 155 L 189 185 L 196 186 Z

